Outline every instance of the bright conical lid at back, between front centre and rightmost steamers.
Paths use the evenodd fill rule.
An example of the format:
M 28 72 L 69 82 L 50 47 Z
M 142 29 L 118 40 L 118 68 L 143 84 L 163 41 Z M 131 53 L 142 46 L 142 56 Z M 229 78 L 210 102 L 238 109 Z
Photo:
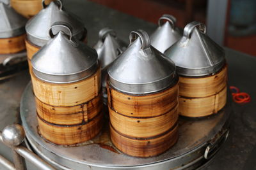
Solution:
M 164 14 L 158 20 L 156 31 L 150 36 L 151 45 L 162 53 L 181 38 L 181 32 L 175 23 L 175 17 Z

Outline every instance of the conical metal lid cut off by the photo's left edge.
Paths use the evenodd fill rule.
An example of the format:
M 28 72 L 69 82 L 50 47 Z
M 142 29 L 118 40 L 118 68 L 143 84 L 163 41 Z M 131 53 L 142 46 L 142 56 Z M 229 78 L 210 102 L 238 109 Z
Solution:
M 17 13 L 9 4 L 0 1 L 0 38 L 11 38 L 25 34 L 27 19 Z

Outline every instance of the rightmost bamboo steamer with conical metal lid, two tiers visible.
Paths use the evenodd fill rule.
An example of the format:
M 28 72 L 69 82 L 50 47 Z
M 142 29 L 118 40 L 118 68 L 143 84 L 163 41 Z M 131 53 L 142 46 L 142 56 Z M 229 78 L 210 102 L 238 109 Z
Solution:
M 179 114 L 185 117 L 218 113 L 227 100 L 225 52 L 205 30 L 200 22 L 189 23 L 183 37 L 164 52 L 180 75 Z

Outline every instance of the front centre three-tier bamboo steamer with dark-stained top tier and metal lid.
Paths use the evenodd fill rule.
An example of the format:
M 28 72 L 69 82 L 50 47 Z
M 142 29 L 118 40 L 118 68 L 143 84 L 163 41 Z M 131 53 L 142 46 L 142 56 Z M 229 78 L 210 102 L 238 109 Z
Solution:
M 177 141 L 179 78 L 145 31 L 132 31 L 130 41 L 108 69 L 111 141 L 127 155 L 152 157 Z

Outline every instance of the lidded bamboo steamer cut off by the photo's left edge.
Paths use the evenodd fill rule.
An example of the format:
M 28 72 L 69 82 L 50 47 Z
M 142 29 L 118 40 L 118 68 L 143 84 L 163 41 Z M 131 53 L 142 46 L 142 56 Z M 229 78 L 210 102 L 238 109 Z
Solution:
M 0 20 L 0 55 L 25 50 L 26 18 L 19 15 L 8 4 L 0 2 Z

